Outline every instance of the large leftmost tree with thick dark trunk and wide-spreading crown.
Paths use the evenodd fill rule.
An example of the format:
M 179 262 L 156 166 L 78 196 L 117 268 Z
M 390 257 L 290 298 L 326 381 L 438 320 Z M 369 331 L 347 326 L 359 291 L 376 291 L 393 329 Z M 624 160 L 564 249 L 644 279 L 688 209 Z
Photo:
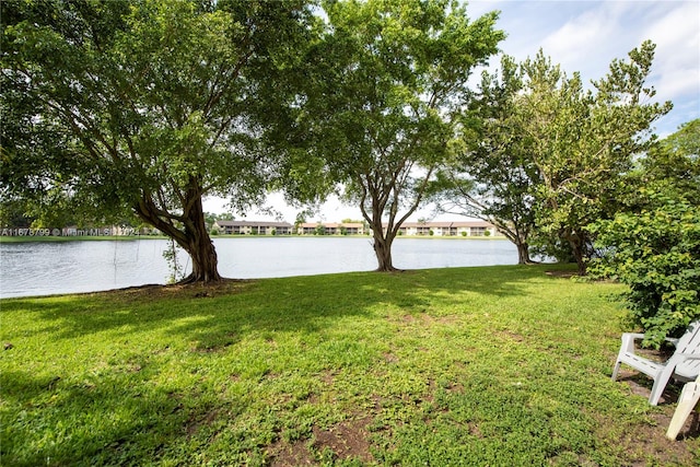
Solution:
M 302 0 L 3 1 L 3 196 L 130 211 L 220 279 L 202 197 L 265 195 L 293 100 Z

